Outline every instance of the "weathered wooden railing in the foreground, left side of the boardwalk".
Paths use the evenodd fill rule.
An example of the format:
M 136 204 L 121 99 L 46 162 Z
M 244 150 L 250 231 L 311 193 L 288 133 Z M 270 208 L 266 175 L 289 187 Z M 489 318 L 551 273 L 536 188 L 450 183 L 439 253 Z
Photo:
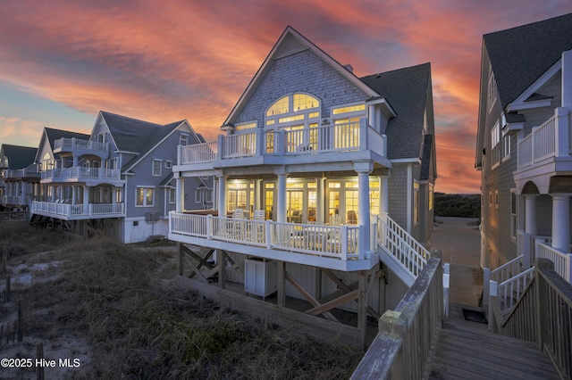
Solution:
M 432 257 L 395 310 L 379 319 L 379 333 L 352 379 L 418 379 L 443 324 L 442 259 Z

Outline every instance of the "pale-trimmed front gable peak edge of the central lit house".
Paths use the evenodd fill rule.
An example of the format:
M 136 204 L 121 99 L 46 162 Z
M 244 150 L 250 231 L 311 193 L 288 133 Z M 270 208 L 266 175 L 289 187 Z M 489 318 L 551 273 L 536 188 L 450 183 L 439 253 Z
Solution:
M 230 123 L 231 120 L 233 120 L 234 117 L 240 113 L 244 105 L 248 103 L 248 99 L 256 91 L 260 81 L 265 78 L 266 72 L 270 70 L 270 67 L 272 66 L 271 63 L 274 59 L 281 58 L 282 56 L 289 54 L 298 53 L 304 50 L 311 50 L 315 55 L 330 65 L 333 70 L 338 71 L 343 77 L 347 78 L 356 87 L 364 91 L 366 95 L 371 97 L 379 96 L 379 94 L 375 93 L 373 88 L 365 86 L 365 84 L 360 81 L 353 72 L 348 70 L 347 67 L 334 60 L 332 56 L 326 54 L 322 49 L 314 45 L 309 39 L 302 36 L 296 29 L 293 29 L 289 25 L 286 27 L 286 29 L 284 29 L 282 36 L 278 38 L 278 41 L 276 44 L 274 44 L 272 50 L 266 56 L 265 61 L 257 70 L 254 78 L 252 78 L 250 83 L 248 83 L 248 87 L 246 87 L 242 95 L 240 95 L 239 101 L 234 105 L 231 113 L 226 118 L 226 120 L 224 120 L 223 127 Z

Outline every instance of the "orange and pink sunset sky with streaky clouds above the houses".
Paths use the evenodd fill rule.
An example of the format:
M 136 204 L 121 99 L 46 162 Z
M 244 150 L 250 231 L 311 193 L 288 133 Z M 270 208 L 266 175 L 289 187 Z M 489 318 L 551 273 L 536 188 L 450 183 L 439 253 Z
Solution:
M 569 12 L 569 0 L 4 0 L 0 144 L 90 133 L 100 110 L 186 119 L 214 140 L 290 25 L 358 77 L 431 62 L 435 190 L 479 193 L 483 34 Z

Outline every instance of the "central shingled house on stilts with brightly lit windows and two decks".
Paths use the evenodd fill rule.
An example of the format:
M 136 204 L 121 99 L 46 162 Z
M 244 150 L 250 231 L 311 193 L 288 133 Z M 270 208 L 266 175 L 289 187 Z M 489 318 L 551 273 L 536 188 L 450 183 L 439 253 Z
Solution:
M 430 64 L 359 78 L 288 27 L 222 132 L 180 146 L 173 165 L 181 280 L 271 321 L 363 343 L 368 316 L 396 305 L 429 256 Z M 207 214 L 183 206 L 184 180 L 202 176 L 215 178 Z M 301 313 L 287 307 L 296 300 Z M 337 310 L 354 313 L 354 326 Z

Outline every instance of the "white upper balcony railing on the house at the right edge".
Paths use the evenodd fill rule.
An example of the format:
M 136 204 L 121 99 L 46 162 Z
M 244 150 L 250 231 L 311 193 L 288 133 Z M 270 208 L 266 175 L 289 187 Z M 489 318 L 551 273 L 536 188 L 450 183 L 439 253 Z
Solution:
M 572 126 L 567 108 L 557 108 L 554 116 L 518 141 L 518 169 L 524 169 L 551 157 L 569 156 Z

